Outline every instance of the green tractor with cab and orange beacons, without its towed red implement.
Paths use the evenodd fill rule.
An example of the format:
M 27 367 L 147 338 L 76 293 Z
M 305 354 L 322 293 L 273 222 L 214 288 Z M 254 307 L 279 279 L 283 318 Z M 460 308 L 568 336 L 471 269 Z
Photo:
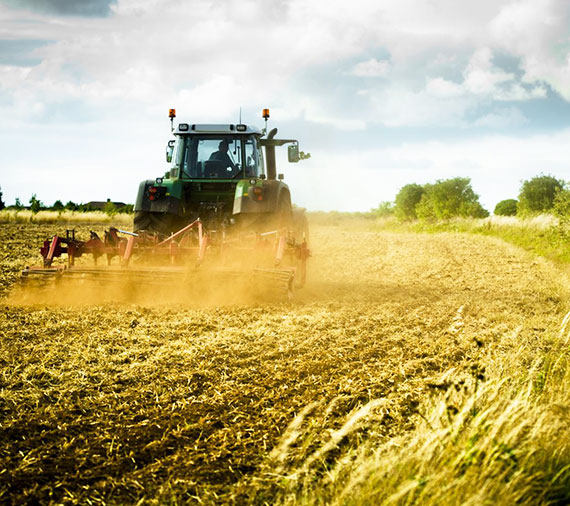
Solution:
M 140 183 L 135 232 L 168 236 L 200 219 L 210 233 L 287 229 L 296 241 L 308 242 L 304 210 L 291 204 L 289 187 L 277 174 L 275 148 L 288 144 L 292 163 L 310 154 L 299 151 L 297 140 L 276 139 L 276 128 L 267 133 L 269 109 L 263 110 L 263 130 L 244 124 L 179 123 L 174 128 L 174 118 L 171 109 L 170 170 Z

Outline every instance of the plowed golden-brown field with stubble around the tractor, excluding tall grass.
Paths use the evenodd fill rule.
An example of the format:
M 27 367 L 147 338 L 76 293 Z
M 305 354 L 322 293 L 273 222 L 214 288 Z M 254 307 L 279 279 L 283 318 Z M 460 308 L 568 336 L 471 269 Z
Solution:
M 366 224 L 312 228 L 292 302 L 26 306 L 9 288 L 62 227 L 0 227 L 3 503 L 271 503 L 540 348 L 563 310 L 555 269 L 499 240 Z

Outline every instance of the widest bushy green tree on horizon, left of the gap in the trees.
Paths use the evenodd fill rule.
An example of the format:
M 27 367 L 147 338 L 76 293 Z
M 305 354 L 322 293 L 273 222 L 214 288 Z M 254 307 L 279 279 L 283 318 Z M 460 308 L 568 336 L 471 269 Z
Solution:
M 456 216 L 484 218 L 489 212 L 479 203 L 467 177 L 438 180 L 424 186 L 424 194 L 416 206 L 422 220 L 448 220 Z

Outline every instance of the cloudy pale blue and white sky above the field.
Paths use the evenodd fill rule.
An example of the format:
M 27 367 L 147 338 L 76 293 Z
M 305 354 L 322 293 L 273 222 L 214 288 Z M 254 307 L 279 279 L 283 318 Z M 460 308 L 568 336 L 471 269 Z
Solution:
M 3 200 L 134 202 L 177 121 L 299 139 L 310 210 L 570 180 L 568 0 L 0 0 Z

